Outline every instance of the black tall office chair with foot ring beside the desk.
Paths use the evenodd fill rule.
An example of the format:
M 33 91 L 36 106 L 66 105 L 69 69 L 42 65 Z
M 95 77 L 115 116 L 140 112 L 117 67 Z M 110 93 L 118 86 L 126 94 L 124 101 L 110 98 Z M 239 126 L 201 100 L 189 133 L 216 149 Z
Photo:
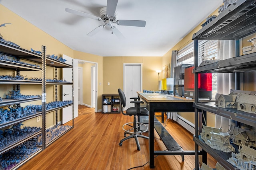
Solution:
M 148 127 L 137 121 L 136 116 L 145 116 L 148 115 L 148 110 L 144 107 L 140 107 L 140 104 L 143 104 L 144 102 L 138 100 L 139 98 L 131 98 L 134 99 L 134 101 L 131 101 L 131 103 L 135 104 L 135 107 L 130 107 L 126 109 L 126 113 L 123 111 L 123 107 L 126 106 L 126 97 L 124 95 L 124 92 L 119 88 L 118 89 L 118 94 L 120 96 L 120 102 L 121 102 L 121 112 L 124 115 L 129 115 L 129 116 L 134 116 L 133 122 L 125 123 L 123 125 L 123 130 L 124 130 L 124 139 L 122 139 L 119 143 L 119 146 L 122 146 L 123 141 L 134 138 L 136 141 L 137 145 L 137 150 L 140 150 L 140 143 L 138 141 L 138 137 L 146 138 L 148 139 L 147 136 L 142 135 L 142 133 L 146 132 L 148 130 Z M 143 130 L 141 130 L 143 128 Z M 146 129 L 146 130 L 144 130 Z M 129 134 L 130 136 L 126 137 L 126 134 Z

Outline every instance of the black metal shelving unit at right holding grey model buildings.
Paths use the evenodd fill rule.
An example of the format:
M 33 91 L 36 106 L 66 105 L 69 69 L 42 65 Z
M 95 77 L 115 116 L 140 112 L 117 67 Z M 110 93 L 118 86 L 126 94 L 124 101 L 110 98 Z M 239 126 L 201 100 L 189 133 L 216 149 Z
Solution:
M 195 54 L 195 68 L 193 70 L 195 74 L 195 102 L 193 104 L 195 107 L 195 129 L 199 129 L 199 125 L 202 124 L 201 114 L 205 111 L 210 111 L 246 125 L 256 126 L 256 115 L 253 113 L 245 113 L 237 109 L 224 109 L 216 107 L 213 103 L 200 103 L 198 101 L 198 73 L 234 73 L 236 89 L 239 90 L 240 72 L 256 70 L 256 53 L 239 56 L 239 39 L 255 33 L 255 23 L 256 1 L 238 0 L 193 35 Z M 198 40 L 234 40 L 236 57 L 198 67 Z M 199 132 L 201 131 L 202 129 L 199 129 Z M 210 148 L 201 139 L 197 130 L 195 130 L 193 140 L 195 142 L 195 170 L 199 169 L 199 147 L 213 156 L 224 168 L 228 170 L 237 169 L 226 161 L 231 157 L 230 153 Z M 206 154 L 203 157 L 203 162 L 207 163 Z

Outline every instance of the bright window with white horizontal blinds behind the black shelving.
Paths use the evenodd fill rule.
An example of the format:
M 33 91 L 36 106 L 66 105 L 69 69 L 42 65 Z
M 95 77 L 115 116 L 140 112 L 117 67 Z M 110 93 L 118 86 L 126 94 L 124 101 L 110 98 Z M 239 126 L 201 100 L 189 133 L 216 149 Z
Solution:
M 218 41 L 198 41 L 198 65 L 202 61 L 218 59 Z M 177 65 L 194 63 L 194 41 L 177 52 Z M 212 73 L 212 98 L 217 93 L 217 73 Z

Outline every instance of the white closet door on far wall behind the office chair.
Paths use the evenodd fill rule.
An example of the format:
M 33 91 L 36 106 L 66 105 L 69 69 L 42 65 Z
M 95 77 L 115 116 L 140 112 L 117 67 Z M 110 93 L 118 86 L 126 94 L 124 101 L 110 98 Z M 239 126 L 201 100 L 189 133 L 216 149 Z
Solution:
M 137 92 L 142 91 L 141 64 L 124 64 L 124 94 L 126 96 L 126 107 L 133 107 L 130 98 L 138 97 Z

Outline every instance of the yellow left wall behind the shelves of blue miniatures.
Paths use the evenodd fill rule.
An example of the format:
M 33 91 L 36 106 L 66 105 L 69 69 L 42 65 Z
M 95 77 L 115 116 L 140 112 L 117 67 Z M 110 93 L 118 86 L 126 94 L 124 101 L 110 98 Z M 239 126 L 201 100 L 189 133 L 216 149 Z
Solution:
M 52 36 L 48 35 L 44 31 L 40 30 L 39 28 L 35 27 L 28 21 L 24 20 L 20 16 L 16 15 L 15 13 L 11 12 L 4 6 L 0 4 L 0 23 L 12 23 L 6 25 L 6 27 L 0 27 L 0 33 L 3 36 L 4 39 L 8 41 L 12 41 L 20 47 L 24 49 L 30 50 L 30 48 L 34 50 L 41 51 L 42 45 L 46 46 L 46 54 L 55 54 L 55 55 L 68 55 L 69 57 L 75 58 L 75 59 L 83 59 L 87 61 L 97 62 L 98 63 L 98 82 L 102 82 L 102 57 L 97 55 L 91 55 L 88 53 L 82 53 L 78 51 L 74 51 L 61 43 L 60 41 L 56 40 Z M 54 77 L 54 69 L 51 67 L 46 68 L 47 74 L 46 78 L 53 78 Z M 40 72 L 22 72 L 21 75 L 28 75 L 28 78 L 30 77 L 42 77 L 42 74 Z M 62 78 L 61 74 L 58 74 L 58 78 Z M 5 87 L 1 87 L 5 88 Z M 33 87 L 34 88 L 34 87 Z M 42 94 L 41 89 L 39 88 L 35 90 L 35 92 L 31 91 L 33 88 L 23 88 L 21 91 L 22 94 L 27 94 L 28 91 L 31 94 Z M 54 87 L 53 86 L 47 86 L 47 100 L 46 102 L 51 102 L 55 100 L 54 96 Z M 60 89 L 60 88 L 59 88 Z M 98 86 L 98 108 L 101 108 L 101 94 L 102 94 L 102 86 Z M 7 90 L 7 89 L 6 89 Z M 90 89 L 84 89 L 84 91 L 90 91 Z M 61 90 L 58 90 L 59 94 L 61 94 Z M 1 97 L 3 97 L 4 94 L 1 94 Z M 60 96 L 58 97 L 60 98 Z M 34 104 L 34 103 L 33 103 Z M 60 121 L 60 115 L 58 116 Z M 48 113 L 46 116 L 47 124 L 46 127 L 50 127 L 54 124 L 55 118 L 54 113 Z M 42 123 L 36 123 L 36 120 L 31 119 L 29 121 L 26 121 L 26 125 L 37 125 L 40 126 Z

